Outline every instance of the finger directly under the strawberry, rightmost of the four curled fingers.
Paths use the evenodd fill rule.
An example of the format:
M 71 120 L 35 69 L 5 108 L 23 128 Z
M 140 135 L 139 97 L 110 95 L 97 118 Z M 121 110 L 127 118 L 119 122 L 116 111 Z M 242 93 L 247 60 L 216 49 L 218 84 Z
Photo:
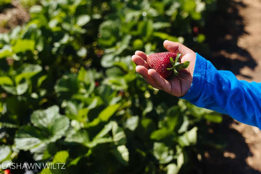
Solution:
M 164 78 L 162 78 L 156 70 L 149 69 L 148 74 L 151 78 L 155 81 L 156 85 L 159 86 L 162 90 L 166 91 L 167 93 L 171 93 L 172 86 L 171 83 Z

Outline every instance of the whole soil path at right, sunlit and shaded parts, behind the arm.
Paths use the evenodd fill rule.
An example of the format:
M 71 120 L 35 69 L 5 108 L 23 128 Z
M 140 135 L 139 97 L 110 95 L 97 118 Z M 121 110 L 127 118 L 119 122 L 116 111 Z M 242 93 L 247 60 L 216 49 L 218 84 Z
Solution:
M 218 0 L 208 24 L 209 60 L 240 80 L 261 82 L 261 1 Z M 213 21 L 215 21 L 213 23 Z M 207 55 L 206 55 L 207 56 Z M 227 140 L 223 151 L 206 151 L 204 173 L 261 174 L 261 131 L 224 115 L 215 133 Z

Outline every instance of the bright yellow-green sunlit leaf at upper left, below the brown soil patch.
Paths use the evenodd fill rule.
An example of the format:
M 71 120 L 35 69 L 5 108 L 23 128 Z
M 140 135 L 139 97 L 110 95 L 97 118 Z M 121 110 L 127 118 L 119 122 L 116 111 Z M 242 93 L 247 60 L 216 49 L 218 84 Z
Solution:
M 24 51 L 34 51 L 35 50 L 35 41 L 30 39 L 19 39 L 16 44 L 12 46 L 14 53 L 24 52 Z

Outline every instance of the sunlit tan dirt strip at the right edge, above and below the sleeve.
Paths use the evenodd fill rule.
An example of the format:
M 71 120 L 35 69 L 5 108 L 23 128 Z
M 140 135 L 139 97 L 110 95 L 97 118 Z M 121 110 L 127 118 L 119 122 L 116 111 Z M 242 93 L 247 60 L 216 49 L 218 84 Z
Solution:
M 247 7 L 239 7 L 239 14 L 244 19 L 245 31 L 248 34 L 239 37 L 238 46 L 250 53 L 257 66 L 254 69 L 249 67 L 240 69 L 242 75 L 250 76 L 251 79 L 244 78 L 242 75 L 237 77 L 247 81 L 261 82 L 261 1 L 242 0 L 242 2 Z M 231 124 L 231 126 L 242 133 L 253 154 L 253 156 L 247 157 L 247 164 L 261 173 L 261 131 L 256 127 L 244 124 Z

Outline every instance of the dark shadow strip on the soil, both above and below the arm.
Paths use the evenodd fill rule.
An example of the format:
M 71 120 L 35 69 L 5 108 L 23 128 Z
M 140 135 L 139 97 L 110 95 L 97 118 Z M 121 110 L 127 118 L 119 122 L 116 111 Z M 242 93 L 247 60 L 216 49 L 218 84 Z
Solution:
M 205 31 L 207 43 L 210 43 L 211 57 L 208 59 L 219 70 L 230 70 L 235 75 L 240 74 L 240 68 L 248 66 L 254 69 L 257 66 L 255 60 L 247 50 L 238 47 L 238 38 L 248 34 L 244 30 L 243 17 L 240 16 L 238 8 L 246 8 L 242 2 L 231 0 L 218 0 L 218 10 L 210 16 Z M 236 54 L 241 59 L 231 59 L 231 54 Z M 229 55 L 229 56 L 226 56 Z M 233 58 L 233 57 L 232 57 Z M 244 76 L 246 77 L 246 76 Z M 251 78 L 251 77 L 246 77 Z M 233 119 L 224 116 L 222 124 L 214 127 L 217 134 L 226 139 L 227 146 L 224 151 L 235 154 L 235 158 L 224 157 L 224 151 L 208 150 L 209 157 L 203 157 L 201 168 L 204 174 L 238 173 L 238 174 L 260 174 L 246 163 L 246 158 L 251 156 L 244 137 L 236 130 L 229 127 Z

